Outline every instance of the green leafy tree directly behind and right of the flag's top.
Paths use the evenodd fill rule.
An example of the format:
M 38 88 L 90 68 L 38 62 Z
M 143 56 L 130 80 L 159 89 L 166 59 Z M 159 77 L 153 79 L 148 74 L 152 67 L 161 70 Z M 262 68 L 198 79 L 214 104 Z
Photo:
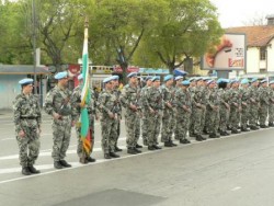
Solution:
M 96 0 L 94 5 L 90 24 L 94 61 L 117 62 L 125 76 L 144 35 L 161 18 L 164 1 Z

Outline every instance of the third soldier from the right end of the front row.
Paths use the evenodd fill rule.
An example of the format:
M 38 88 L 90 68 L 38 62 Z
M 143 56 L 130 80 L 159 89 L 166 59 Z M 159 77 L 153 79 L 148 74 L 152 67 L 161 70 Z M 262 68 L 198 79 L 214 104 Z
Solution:
M 252 130 L 259 129 L 258 123 L 258 112 L 259 112 L 259 93 L 258 93 L 259 81 L 258 78 L 251 80 L 251 85 L 249 87 L 250 95 L 250 115 L 249 115 L 249 126 Z

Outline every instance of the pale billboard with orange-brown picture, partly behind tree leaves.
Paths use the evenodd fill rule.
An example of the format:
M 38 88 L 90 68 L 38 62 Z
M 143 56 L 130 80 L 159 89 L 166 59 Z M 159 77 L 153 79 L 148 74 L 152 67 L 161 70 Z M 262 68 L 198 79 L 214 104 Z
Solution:
M 224 34 L 220 44 L 202 57 L 205 70 L 244 70 L 247 62 L 246 34 Z

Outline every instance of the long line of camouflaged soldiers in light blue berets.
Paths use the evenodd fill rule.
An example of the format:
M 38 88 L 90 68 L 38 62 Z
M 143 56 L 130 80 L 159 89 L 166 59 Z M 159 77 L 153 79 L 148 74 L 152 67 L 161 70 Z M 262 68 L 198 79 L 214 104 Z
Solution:
M 122 91 L 118 88 L 118 76 L 105 78 L 104 90 L 99 98 L 92 98 L 88 105 L 81 105 L 82 76 L 78 77 L 80 85 L 72 92 L 67 89 L 67 72 L 59 72 L 55 78 L 58 83 L 48 92 L 44 108 L 53 116 L 52 157 L 56 169 L 71 167 L 65 158 L 71 127 L 75 125 L 79 161 L 95 161 L 91 157 L 92 150 L 90 153 L 83 151 L 80 126 L 77 125 L 83 106 L 90 115 L 92 148 L 94 119 L 101 122 L 101 147 L 105 159 L 119 158 L 117 152 L 122 149 L 117 142 L 123 108 L 129 154 L 140 153 L 140 148 L 145 146 L 148 150 L 161 149 L 159 140 L 163 147 L 175 147 L 174 140 L 191 144 L 190 137 L 203 141 L 206 140 L 205 135 L 219 138 L 274 126 L 274 81 L 267 82 L 265 79 L 215 81 L 194 77 L 186 80 L 182 76 L 174 78 L 168 75 L 162 84 L 160 77 L 146 77 L 146 84 L 141 87 L 138 73 L 132 72 L 127 76 L 128 84 Z M 41 108 L 37 100 L 28 92 L 30 89 L 25 92 L 26 85 L 32 85 L 32 82 L 30 79 L 21 81 L 22 94 L 16 98 L 13 106 L 20 163 L 25 175 L 39 172 L 33 164 L 39 151 Z M 138 144 L 140 137 L 144 146 Z

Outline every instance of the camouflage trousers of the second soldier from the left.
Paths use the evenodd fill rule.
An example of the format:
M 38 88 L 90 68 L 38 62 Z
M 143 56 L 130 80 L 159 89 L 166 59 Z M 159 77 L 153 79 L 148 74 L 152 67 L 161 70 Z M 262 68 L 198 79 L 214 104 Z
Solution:
M 53 152 L 54 161 L 65 159 L 71 137 L 71 117 L 62 116 L 62 119 L 54 119 L 53 125 Z

